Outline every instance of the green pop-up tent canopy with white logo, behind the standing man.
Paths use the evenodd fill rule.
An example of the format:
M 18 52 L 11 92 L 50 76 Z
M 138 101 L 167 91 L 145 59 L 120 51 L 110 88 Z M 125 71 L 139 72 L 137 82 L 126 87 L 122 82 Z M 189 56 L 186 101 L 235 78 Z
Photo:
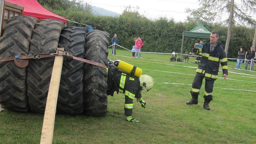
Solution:
M 195 37 L 195 38 L 204 38 L 210 39 L 211 32 L 207 30 L 202 23 L 199 23 L 196 28 L 190 31 L 183 31 L 182 34 L 182 43 L 181 43 L 181 53 L 183 48 L 183 39 L 184 37 Z

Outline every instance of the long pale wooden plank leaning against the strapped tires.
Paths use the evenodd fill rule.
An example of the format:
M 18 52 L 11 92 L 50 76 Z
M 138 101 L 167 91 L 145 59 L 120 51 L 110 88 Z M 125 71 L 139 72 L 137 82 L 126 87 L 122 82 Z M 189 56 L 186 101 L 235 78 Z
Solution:
M 58 48 L 64 51 L 64 48 Z M 60 87 L 60 76 L 63 64 L 63 56 L 56 56 L 52 69 L 52 78 L 49 86 L 46 107 L 44 112 L 44 123 L 40 144 L 51 144 L 54 128 L 54 120 Z

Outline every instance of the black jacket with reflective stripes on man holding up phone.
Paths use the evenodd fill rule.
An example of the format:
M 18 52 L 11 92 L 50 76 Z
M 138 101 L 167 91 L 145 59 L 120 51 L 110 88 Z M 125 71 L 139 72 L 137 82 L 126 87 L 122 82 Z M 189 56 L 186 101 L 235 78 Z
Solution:
M 197 54 L 198 49 L 193 48 L 193 52 Z M 228 75 L 228 60 L 219 41 L 217 41 L 217 45 L 213 51 L 211 50 L 210 40 L 203 43 L 202 53 L 202 59 L 196 69 L 197 73 L 205 76 L 205 79 L 216 80 L 221 64 L 223 74 Z

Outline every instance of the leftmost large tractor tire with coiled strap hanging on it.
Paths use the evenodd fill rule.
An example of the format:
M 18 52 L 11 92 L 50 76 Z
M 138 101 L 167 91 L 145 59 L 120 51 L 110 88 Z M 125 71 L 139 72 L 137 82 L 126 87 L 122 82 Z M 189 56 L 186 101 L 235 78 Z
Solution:
M 28 54 L 36 22 L 36 18 L 29 16 L 13 16 L 7 21 L 0 38 L 0 59 Z M 0 63 L 0 103 L 2 108 L 12 111 L 29 110 L 26 68 L 17 67 L 13 61 Z

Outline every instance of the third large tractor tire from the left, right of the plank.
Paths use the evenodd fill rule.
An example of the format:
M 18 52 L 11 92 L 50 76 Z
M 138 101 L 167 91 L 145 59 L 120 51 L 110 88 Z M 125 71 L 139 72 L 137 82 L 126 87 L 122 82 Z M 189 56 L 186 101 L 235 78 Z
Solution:
M 59 47 L 72 52 L 73 56 L 84 58 L 85 37 L 85 28 L 64 28 L 60 34 Z M 77 115 L 83 112 L 83 66 L 84 62 L 64 59 L 57 103 L 59 113 Z

